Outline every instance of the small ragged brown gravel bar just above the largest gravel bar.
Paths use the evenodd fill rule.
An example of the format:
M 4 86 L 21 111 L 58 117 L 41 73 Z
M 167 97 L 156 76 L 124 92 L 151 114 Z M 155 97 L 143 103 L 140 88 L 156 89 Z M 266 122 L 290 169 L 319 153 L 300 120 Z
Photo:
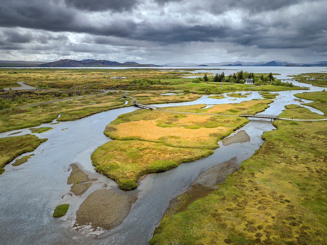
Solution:
M 72 167 L 72 172 L 67 179 L 67 184 L 74 184 L 71 186 L 70 191 L 76 196 L 80 196 L 92 185 L 92 183 L 84 182 L 94 181 L 97 179 L 90 179 L 89 176 L 81 171 L 74 163 L 71 164 L 70 167 Z

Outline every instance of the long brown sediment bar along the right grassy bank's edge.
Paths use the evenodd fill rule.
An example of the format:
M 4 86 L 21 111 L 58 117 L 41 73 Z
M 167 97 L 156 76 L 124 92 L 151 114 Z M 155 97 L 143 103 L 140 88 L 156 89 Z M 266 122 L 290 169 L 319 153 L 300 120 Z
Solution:
M 217 188 L 216 185 L 226 179 L 227 174 L 238 170 L 238 168 L 232 166 L 235 162 L 236 157 L 233 157 L 222 164 L 201 172 L 184 193 L 170 201 L 169 207 L 163 215 L 163 220 L 173 214 L 184 211 L 196 199 L 205 197 L 213 192 Z

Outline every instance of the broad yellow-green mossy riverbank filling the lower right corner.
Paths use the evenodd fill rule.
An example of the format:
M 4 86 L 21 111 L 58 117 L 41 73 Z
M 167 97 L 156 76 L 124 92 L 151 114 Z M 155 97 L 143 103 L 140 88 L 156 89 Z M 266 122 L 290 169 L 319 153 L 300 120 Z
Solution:
M 327 92 L 318 95 L 326 98 Z M 326 111 L 327 103 L 315 105 Z M 321 117 L 304 107 L 287 108 L 281 117 Z M 164 219 L 150 244 L 324 244 L 327 122 L 273 124 L 277 130 L 263 134 L 265 143 L 239 172 Z

